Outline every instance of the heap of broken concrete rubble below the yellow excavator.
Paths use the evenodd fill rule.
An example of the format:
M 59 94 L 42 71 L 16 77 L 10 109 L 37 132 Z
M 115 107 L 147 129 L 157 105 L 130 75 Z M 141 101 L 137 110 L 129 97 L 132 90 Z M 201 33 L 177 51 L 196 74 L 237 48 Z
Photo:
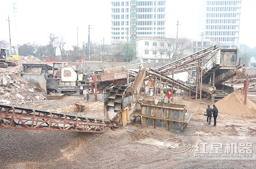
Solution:
M 35 56 L 20 56 L 19 61 L 15 62 L 16 66 L 0 68 L 0 103 L 1 104 L 26 104 L 29 102 L 39 102 L 46 99 L 44 92 L 33 85 L 27 79 L 20 77 L 23 71 L 23 63 L 41 62 Z

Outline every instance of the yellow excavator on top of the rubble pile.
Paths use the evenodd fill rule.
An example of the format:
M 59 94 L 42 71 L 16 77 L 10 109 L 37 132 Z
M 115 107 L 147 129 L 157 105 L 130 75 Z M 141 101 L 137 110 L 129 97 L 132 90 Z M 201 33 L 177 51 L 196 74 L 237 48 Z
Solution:
M 0 48 L 0 68 L 7 68 L 8 66 L 16 66 L 13 62 L 8 61 L 18 61 L 20 56 L 13 54 L 10 49 Z

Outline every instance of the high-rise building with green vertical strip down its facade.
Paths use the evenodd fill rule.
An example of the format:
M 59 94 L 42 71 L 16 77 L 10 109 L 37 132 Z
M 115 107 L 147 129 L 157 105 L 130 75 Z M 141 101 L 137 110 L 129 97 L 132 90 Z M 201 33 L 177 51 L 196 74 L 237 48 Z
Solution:
M 141 36 L 165 37 L 166 1 L 111 0 L 111 40 L 136 48 Z

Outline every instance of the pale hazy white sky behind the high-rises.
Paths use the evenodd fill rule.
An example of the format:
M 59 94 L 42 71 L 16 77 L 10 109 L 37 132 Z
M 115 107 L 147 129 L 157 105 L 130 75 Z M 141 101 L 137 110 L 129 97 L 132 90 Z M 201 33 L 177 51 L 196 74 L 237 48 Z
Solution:
M 16 23 L 13 3 L 16 3 Z M 202 0 L 166 0 L 166 34 L 176 36 L 177 20 L 179 36 L 200 38 L 200 8 Z M 110 0 L 0 0 L 0 40 L 9 41 L 8 15 L 10 16 L 12 46 L 17 43 L 46 44 L 50 33 L 63 36 L 66 47 L 88 41 L 88 25 L 91 25 L 91 41 L 110 43 Z M 240 43 L 256 47 L 255 0 L 242 0 Z M 17 31 L 16 31 L 17 27 Z

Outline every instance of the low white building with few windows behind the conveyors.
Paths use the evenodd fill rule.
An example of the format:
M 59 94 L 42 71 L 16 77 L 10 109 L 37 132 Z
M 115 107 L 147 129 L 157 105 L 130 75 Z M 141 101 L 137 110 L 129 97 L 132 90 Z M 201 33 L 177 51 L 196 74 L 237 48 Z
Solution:
M 159 47 L 162 44 L 165 45 L 164 43 L 168 43 L 169 40 L 172 39 L 146 36 L 136 38 L 136 57 L 138 58 L 138 62 L 151 60 L 154 60 L 156 63 L 160 63 L 162 60 L 163 64 L 170 62 L 169 56 L 161 52 L 161 48 Z

